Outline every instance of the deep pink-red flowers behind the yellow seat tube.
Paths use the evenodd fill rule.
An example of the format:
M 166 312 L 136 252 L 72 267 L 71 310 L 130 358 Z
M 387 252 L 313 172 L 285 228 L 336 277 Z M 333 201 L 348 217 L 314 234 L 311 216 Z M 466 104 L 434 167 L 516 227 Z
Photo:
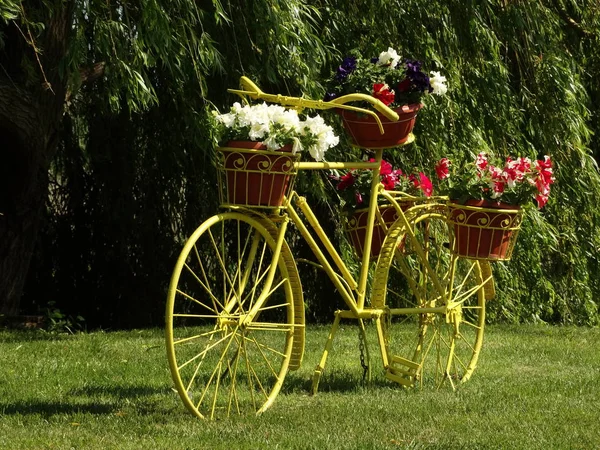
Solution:
M 369 162 L 374 161 L 373 158 L 369 159 Z M 430 197 L 433 194 L 431 180 L 424 172 L 415 171 L 405 174 L 401 169 L 394 169 L 389 162 L 382 160 L 379 177 L 383 187 L 388 191 L 402 191 L 415 197 Z M 331 179 L 344 202 L 343 207 L 349 215 L 352 215 L 358 208 L 369 206 L 371 202 L 371 170 L 350 170 L 341 176 L 335 174 L 331 176 Z

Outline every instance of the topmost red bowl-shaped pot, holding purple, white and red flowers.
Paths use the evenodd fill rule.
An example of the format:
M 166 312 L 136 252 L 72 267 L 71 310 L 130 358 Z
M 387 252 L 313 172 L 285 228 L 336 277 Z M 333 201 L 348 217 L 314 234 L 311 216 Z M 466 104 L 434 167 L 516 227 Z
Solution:
M 355 145 L 361 148 L 391 148 L 404 144 L 415 126 L 417 113 L 423 105 L 414 103 L 404 105 L 394 111 L 398 114 L 397 122 L 391 121 L 381 113 L 377 116 L 381 120 L 384 134 L 381 134 L 375 118 L 365 114 L 357 114 L 349 110 L 340 110 L 342 122 L 346 132 Z

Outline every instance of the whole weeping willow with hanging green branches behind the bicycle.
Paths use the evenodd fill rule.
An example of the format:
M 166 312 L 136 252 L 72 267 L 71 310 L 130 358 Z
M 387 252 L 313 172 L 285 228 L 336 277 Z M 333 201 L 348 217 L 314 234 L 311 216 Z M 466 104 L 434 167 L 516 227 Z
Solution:
M 207 114 L 234 100 L 226 89 L 244 74 L 319 98 L 350 49 L 392 46 L 451 87 L 395 163 L 482 150 L 556 162 L 548 206 L 495 265 L 490 317 L 599 322 L 597 2 L 9 0 L 0 20 L 3 312 L 25 286 L 22 309 L 53 301 L 92 326 L 160 323 L 182 242 L 217 209 Z M 323 178 L 299 181 L 343 247 Z M 310 317 L 329 319 L 333 292 L 313 270 L 301 267 Z

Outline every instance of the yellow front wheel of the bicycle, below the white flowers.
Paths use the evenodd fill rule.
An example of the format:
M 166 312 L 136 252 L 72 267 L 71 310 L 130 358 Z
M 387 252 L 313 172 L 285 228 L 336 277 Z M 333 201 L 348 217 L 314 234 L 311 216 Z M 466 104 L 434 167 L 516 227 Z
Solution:
M 274 260 L 276 236 L 266 222 L 235 212 L 211 217 L 173 271 L 169 366 L 181 399 L 200 418 L 262 413 L 288 371 L 294 292 L 302 288 L 288 270 L 295 264 L 285 241 Z

